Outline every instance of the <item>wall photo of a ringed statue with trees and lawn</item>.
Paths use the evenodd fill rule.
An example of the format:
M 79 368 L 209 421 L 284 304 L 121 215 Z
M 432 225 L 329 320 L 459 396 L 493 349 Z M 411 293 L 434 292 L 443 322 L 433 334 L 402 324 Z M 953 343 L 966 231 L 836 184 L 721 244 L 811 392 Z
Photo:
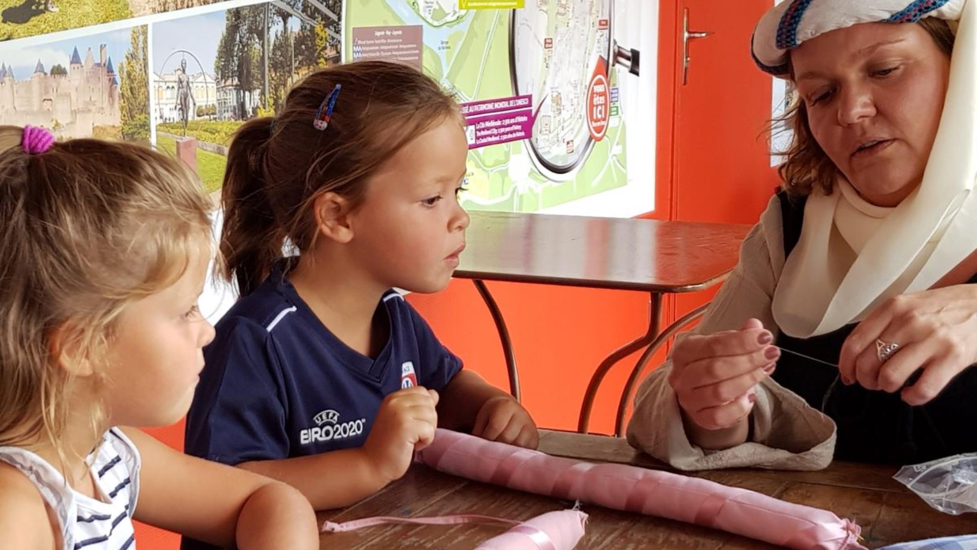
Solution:
M 275 114 L 295 81 L 339 62 L 341 8 L 340 0 L 280 0 L 153 23 L 156 146 L 218 190 L 234 130 Z

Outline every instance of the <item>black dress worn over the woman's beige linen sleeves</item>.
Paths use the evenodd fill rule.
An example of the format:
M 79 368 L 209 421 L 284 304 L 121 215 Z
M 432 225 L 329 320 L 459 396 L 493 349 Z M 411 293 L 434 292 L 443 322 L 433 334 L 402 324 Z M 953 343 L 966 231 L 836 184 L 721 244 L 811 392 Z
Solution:
M 783 192 L 779 199 L 786 257 L 800 238 L 805 199 L 788 198 Z M 977 283 L 977 276 L 969 282 Z M 777 345 L 837 364 L 841 344 L 855 326 L 803 340 L 781 334 Z M 898 392 L 845 386 L 837 369 L 791 353 L 782 354 L 773 378 L 834 420 L 837 460 L 906 465 L 977 451 L 977 369 L 973 366 L 918 407 L 908 405 Z

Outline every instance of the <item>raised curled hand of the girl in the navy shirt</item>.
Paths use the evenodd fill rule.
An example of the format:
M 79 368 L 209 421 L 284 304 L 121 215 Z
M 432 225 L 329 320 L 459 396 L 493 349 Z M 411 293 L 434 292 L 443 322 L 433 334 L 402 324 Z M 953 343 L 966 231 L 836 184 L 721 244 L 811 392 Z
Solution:
M 414 451 L 434 440 L 438 392 L 425 388 L 394 391 L 380 404 L 363 451 L 384 484 L 404 476 Z

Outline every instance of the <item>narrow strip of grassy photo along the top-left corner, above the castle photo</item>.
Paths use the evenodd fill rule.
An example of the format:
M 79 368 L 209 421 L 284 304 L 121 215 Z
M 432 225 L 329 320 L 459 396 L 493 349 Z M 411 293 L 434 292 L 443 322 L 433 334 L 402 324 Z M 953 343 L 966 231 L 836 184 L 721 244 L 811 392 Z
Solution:
M 218 0 L 0 0 L 0 40 L 212 4 Z

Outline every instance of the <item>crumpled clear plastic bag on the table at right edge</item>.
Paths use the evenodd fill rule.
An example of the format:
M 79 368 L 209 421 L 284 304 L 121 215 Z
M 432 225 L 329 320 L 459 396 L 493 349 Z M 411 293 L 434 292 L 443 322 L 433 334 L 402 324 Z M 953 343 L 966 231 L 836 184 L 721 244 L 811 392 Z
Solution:
M 904 466 L 894 479 L 940 512 L 977 512 L 977 453 Z

